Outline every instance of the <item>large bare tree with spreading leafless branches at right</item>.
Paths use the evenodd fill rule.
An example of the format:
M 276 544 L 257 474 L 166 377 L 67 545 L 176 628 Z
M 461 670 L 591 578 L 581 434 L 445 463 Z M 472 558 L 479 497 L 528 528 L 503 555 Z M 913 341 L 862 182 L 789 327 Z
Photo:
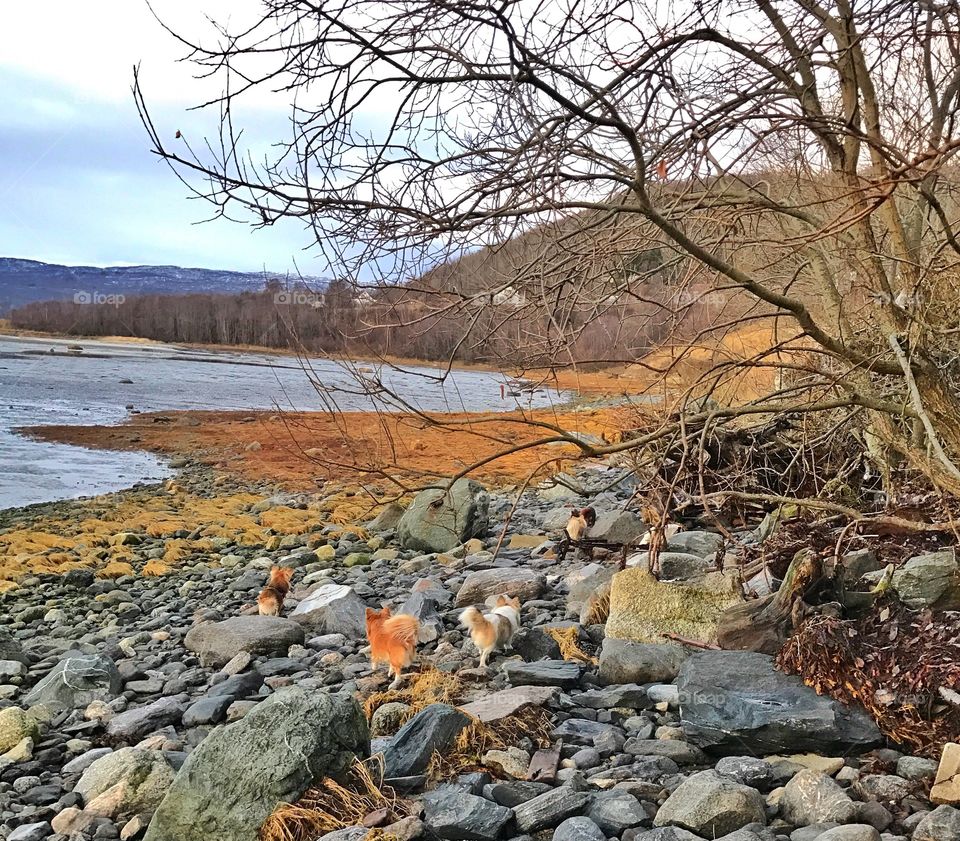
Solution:
M 220 213 L 302 219 L 405 324 L 465 320 L 451 355 L 509 317 L 531 360 L 576 365 L 625 302 L 688 343 L 773 318 L 748 361 L 776 386 L 694 413 L 693 440 L 840 412 L 884 471 L 960 492 L 955 0 L 267 0 L 177 37 L 223 79 L 221 132 L 175 138 L 138 79 L 154 152 Z M 291 105 L 266 154 L 235 124 L 263 87 Z M 522 335 L 529 313 L 550 330 Z

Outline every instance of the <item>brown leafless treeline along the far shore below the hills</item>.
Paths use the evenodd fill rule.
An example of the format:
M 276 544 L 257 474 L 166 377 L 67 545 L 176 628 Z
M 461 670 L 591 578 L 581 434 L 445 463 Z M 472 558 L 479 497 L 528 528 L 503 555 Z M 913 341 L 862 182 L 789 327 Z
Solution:
M 75 336 L 534 367 L 569 364 L 571 350 L 588 362 L 636 359 L 675 328 L 664 311 L 614 302 L 601 312 L 566 313 L 558 330 L 555 314 L 536 303 L 471 306 L 457 296 L 402 287 L 358 293 L 334 283 L 318 292 L 274 282 L 259 292 L 230 295 L 43 301 L 13 310 L 10 321 L 18 329 Z

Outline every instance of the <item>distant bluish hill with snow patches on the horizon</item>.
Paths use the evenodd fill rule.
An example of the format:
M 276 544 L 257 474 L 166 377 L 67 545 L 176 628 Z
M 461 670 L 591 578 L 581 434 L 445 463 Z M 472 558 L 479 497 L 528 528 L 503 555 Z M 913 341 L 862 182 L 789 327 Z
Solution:
M 74 295 L 184 295 L 194 292 L 253 292 L 284 275 L 184 269 L 180 266 L 58 266 L 0 257 L 0 315 L 34 301 L 72 300 Z M 291 278 L 295 280 L 295 278 Z M 305 278 L 311 285 L 324 285 Z

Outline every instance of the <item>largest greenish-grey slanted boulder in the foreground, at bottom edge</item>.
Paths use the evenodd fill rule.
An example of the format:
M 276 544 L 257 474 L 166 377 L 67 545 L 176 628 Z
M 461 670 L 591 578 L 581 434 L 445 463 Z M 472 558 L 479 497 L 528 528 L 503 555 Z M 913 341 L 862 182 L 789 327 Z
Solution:
M 144 841 L 256 841 L 279 803 L 295 802 L 323 777 L 343 781 L 369 749 L 367 723 L 352 697 L 280 689 L 194 749 Z

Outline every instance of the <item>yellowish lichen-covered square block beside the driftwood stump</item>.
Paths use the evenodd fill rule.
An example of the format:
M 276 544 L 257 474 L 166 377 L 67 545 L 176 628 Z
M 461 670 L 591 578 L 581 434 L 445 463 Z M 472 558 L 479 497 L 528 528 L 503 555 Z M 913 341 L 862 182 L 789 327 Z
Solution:
M 646 569 L 625 569 L 613 576 L 610 588 L 608 638 L 662 643 L 665 633 L 716 641 L 720 614 L 741 604 L 732 576 L 711 572 L 695 582 L 658 581 Z

